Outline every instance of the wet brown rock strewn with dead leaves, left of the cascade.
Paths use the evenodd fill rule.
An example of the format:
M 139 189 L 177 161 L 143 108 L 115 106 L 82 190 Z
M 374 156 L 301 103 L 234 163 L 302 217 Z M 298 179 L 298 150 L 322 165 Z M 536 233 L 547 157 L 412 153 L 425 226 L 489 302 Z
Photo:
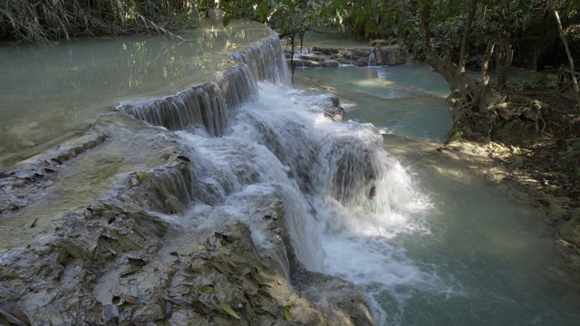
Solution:
M 191 164 L 111 113 L 3 172 L 0 324 L 373 324 L 352 283 L 296 259 L 275 190 L 247 198 L 250 220 L 189 212 Z

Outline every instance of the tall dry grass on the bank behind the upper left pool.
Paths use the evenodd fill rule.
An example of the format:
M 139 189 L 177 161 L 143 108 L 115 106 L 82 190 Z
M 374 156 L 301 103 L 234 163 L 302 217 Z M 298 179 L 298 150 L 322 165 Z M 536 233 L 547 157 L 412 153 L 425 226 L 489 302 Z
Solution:
M 197 20 L 193 0 L 0 0 L 0 41 L 169 33 L 184 16 Z

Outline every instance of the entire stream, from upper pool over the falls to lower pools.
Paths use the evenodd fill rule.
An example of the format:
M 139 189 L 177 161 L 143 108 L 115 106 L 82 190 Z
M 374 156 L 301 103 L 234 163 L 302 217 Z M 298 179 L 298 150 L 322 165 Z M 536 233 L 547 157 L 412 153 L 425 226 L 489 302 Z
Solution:
M 122 110 L 189 150 L 191 201 L 167 221 L 193 233 L 237 219 L 266 248 L 250 212 L 275 194 L 298 261 L 358 285 L 377 325 L 580 324 L 541 212 L 436 154 L 449 91 L 428 66 L 296 70 L 334 88 L 339 123 L 319 108 L 328 93 L 289 85 L 269 29 L 184 35 L 0 48 L 0 170 Z

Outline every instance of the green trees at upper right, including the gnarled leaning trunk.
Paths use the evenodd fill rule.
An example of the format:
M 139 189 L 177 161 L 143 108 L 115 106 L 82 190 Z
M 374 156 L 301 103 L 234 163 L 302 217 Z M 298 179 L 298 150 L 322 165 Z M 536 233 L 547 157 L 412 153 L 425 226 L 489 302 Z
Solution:
M 328 24 L 396 38 L 449 82 L 453 132 L 477 129 L 491 137 L 497 126 L 513 121 L 541 132 L 542 105 L 505 92 L 509 67 L 556 69 L 580 61 L 580 3 L 571 0 L 240 0 L 224 9 L 225 24 L 235 17 L 255 19 L 293 43 L 312 26 Z M 568 42 L 570 55 L 564 51 Z

